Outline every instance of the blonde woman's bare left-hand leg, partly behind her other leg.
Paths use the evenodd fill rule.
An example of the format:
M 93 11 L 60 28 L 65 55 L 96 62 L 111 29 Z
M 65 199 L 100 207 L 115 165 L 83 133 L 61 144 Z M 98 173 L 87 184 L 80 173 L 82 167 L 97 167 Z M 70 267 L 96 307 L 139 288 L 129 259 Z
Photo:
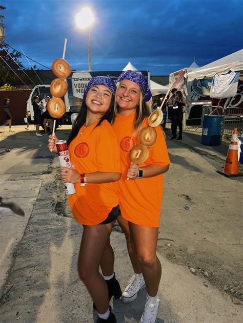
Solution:
M 140 274 L 142 272 L 140 263 L 137 259 L 135 245 L 132 239 L 132 231 L 130 230 L 129 223 L 127 220 L 123 219 L 122 217 L 117 217 L 117 222 L 119 226 L 122 228 L 126 241 L 127 241 L 127 249 L 128 254 L 132 263 L 133 270 L 136 274 Z

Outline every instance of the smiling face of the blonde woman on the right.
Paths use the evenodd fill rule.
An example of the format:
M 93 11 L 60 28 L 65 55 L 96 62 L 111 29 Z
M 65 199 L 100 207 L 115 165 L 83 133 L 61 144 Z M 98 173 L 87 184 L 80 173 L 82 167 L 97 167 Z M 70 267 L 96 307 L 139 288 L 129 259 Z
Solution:
M 119 106 L 119 112 L 136 110 L 140 101 L 141 90 L 139 85 L 130 80 L 120 81 L 116 91 L 116 103 Z

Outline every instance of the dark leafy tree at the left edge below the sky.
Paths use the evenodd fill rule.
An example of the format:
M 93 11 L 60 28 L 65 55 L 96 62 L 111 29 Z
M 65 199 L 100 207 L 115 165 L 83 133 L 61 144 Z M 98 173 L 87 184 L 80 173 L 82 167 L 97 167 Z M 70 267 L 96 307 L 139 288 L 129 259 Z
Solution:
M 17 66 L 17 64 L 12 60 L 12 58 L 6 53 L 6 51 L 13 57 L 15 61 L 19 64 L 21 68 L 24 68 L 22 62 L 19 60 L 19 57 L 21 57 L 21 54 L 12 51 L 10 52 L 10 48 L 8 45 L 1 44 L 0 43 L 0 56 L 3 57 L 3 59 L 7 62 L 7 64 L 14 70 L 20 70 L 20 68 Z M 5 83 L 10 84 L 18 84 L 19 79 L 17 76 L 13 73 L 13 71 L 7 66 L 7 64 L 3 61 L 2 58 L 0 58 L 0 87 L 1 85 Z

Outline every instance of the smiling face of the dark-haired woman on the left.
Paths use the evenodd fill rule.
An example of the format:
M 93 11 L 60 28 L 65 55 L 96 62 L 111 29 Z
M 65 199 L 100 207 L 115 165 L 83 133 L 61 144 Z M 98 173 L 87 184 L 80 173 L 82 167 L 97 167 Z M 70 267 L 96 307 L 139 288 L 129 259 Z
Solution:
M 85 103 L 92 114 L 103 116 L 110 107 L 112 92 L 105 85 L 94 85 L 89 89 Z

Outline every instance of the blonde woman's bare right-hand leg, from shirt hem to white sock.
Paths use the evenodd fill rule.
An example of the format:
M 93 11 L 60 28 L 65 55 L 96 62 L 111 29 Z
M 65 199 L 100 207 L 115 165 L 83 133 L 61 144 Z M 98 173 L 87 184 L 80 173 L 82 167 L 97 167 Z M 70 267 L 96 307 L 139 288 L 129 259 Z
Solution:
M 129 223 L 137 259 L 147 286 L 149 296 L 156 296 L 161 278 L 161 264 L 156 256 L 158 228 Z

